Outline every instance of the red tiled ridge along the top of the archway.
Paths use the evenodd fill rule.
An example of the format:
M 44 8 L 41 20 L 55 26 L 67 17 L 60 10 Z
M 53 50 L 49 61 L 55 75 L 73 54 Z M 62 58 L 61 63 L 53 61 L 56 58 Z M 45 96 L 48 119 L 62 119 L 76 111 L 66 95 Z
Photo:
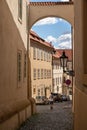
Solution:
M 41 6 L 48 6 L 48 5 L 71 5 L 73 4 L 73 1 L 70 2 L 30 2 L 30 5 L 36 6 L 36 5 L 41 5 Z

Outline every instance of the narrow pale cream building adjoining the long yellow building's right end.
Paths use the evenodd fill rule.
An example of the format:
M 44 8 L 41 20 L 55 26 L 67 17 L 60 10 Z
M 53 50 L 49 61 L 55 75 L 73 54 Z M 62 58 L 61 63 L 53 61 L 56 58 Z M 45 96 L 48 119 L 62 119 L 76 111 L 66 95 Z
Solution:
M 63 69 L 60 66 L 60 53 L 58 51 L 53 55 L 53 92 L 62 94 Z

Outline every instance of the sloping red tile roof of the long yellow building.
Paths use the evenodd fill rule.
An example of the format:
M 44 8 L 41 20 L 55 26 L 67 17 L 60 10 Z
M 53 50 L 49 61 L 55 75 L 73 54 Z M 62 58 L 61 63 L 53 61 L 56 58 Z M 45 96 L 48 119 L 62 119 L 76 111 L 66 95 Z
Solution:
M 41 37 L 39 37 L 39 35 L 37 33 L 35 33 L 34 31 L 30 31 L 30 39 L 39 42 L 40 44 L 43 44 L 45 46 L 48 46 L 50 48 L 53 48 L 52 44 L 49 42 L 46 42 L 44 39 L 42 39 Z

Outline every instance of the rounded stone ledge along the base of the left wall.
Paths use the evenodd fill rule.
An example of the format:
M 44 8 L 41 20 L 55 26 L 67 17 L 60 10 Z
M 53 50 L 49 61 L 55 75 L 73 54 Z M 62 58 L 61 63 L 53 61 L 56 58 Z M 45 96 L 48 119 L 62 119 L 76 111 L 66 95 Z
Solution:
M 9 119 L 13 115 L 17 114 L 21 110 L 25 109 L 31 103 L 29 100 L 22 100 L 18 102 L 14 102 L 12 104 L 4 105 L 0 108 L 0 123 L 4 122 L 5 120 Z

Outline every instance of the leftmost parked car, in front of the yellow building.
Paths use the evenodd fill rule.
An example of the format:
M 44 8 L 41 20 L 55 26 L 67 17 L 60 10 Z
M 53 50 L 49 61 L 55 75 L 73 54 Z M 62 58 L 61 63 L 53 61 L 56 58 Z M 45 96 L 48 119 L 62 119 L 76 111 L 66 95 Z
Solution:
M 49 100 L 45 96 L 36 96 L 35 101 L 36 101 L 37 105 L 39 105 L 39 104 L 42 104 L 42 105 L 49 104 Z

